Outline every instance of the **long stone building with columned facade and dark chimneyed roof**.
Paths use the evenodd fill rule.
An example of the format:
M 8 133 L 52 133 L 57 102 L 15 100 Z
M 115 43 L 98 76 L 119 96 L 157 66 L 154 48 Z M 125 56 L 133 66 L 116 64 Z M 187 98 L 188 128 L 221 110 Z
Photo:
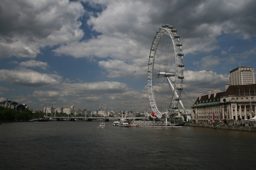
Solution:
M 192 106 L 192 119 L 196 123 L 231 122 L 249 120 L 255 116 L 256 84 L 226 84 L 225 92 L 217 88 L 208 90 L 208 94 L 199 97 Z

